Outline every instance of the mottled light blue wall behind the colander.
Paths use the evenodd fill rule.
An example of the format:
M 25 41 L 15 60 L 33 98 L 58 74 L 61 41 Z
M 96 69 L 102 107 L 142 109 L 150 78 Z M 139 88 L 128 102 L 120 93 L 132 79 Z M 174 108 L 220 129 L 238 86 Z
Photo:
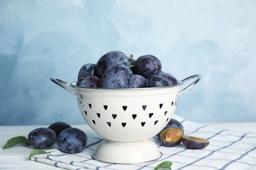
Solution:
M 110 50 L 153 54 L 179 80 L 202 80 L 175 114 L 256 121 L 256 1 L 0 1 L 0 125 L 83 124 L 73 82 Z

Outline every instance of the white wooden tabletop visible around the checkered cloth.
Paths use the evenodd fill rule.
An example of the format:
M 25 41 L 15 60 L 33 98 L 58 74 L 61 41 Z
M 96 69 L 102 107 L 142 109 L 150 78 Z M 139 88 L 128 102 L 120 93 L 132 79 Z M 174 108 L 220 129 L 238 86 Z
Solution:
M 256 131 L 256 122 L 248 123 L 219 123 L 219 124 L 207 124 L 212 127 L 223 127 L 226 129 L 234 129 L 236 131 Z M 25 147 L 22 145 L 13 146 L 3 150 L 5 143 L 16 136 L 28 137 L 28 133 L 37 127 L 47 126 L 0 126 L 0 169 L 60 169 L 51 165 L 45 165 L 35 161 L 28 160 L 32 147 Z M 89 126 L 77 125 L 77 127 L 83 131 L 89 131 L 89 135 L 96 135 Z M 88 134 L 87 134 L 88 135 Z

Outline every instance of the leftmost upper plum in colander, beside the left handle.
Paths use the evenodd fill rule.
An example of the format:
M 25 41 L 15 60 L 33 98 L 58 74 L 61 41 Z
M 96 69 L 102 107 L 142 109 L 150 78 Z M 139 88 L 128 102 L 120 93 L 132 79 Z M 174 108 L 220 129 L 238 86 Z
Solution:
M 96 71 L 96 64 L 86 63 L 80 68 L 77 76 L 77 84 L 79 84 L 81 80 L 85 79 L 85 77 L 89 75 L 95 75 L 95 76 L 98 75 Z

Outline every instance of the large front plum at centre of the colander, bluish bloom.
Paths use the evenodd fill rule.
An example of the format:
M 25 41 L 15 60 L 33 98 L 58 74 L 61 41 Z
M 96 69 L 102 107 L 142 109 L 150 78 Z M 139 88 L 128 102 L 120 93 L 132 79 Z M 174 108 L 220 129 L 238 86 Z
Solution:
M 133 72 L 123 64 L 108 67 L 100 79 L 100 88 L 131 88 Z

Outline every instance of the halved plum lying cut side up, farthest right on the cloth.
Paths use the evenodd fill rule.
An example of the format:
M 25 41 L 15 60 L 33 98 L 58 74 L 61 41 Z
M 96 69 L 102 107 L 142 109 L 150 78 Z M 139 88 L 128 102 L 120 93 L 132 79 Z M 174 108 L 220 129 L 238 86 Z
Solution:
M 190 149 L 202 149 L 208 146 L 209 141 L 199 138 L 199 137 L 192 137 L 192 136 L 181 136 L 182 143 Z

